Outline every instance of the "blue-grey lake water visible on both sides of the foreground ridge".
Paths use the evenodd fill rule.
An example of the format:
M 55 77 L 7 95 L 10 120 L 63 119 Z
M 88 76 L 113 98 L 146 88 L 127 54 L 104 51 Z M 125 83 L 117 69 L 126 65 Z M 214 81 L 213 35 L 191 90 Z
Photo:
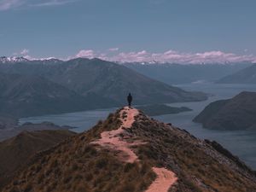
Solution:
M 173 107 L 188 107 L 193 109 L 193 111 L 154 116 L 154 119 L 172 123 L 172 125 L 189 131 L 195 135 L 195 137 L 215 140 L 256 170 L 256 131 L 213 131 L 204 129 L 201 124 L 192 122 L 192 119 L 194 119 L 195 116 L 210 102 L 236 96 L 243 90 L 256 91 L 256 84 L 199 83 L 176 85 L 183 90 L 201 90 L 212 96 L 204 102 L 180 102 L 168 104 Z M 20 124 L 25 122 L 41 123 L 43 121 L 50 121 L 56 125 L 75 126 L 77 128 L 73 131 L 81 132 L 90 129 L 90 127 L 95 125 L 100 119 L 106 119 L 108 113 L 112 113 L 115 110 L 116 108 L 108 108 L 77 113 L 44 115 L 40 117 L 20 119 Z

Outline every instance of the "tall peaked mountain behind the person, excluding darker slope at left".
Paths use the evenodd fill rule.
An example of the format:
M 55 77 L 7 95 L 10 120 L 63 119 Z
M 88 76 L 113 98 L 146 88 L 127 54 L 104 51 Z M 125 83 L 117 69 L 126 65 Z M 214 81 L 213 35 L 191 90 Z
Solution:
M 112 106 L 123 105 L 129 92 L 134 96 L 136 104 L 190 102 L 207 98 L 205 94 L 184 91 L 149 79 L 127 67 L 99 59 L 79 58 L 52 63 L 26 61 L 8 65 L 2 63 L 0 69 L 4 73 L 42 76 L 80 96 L 108 99 Z

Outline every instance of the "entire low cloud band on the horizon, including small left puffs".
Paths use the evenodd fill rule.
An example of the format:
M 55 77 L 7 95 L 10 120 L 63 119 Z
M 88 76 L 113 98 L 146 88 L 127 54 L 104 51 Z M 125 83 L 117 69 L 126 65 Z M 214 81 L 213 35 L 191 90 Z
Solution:
M 220 50 L 213 50 L 199 53 L 185 53 L 175 50 L 168 50 L 165 52 L 149 52 L 147 50 L 122 52 L 119 48 L 110 48 L 106 51 L 95 51 L 93 49 L 82 49 L 76 55 L 57 58 L 55 56 L 38 58 L 34 57 L 29 49 L 22 49 L 13 55 L 15 57 L 22 56 L 28 60 L 48 60 L 60 59 L 63 61 L 75 58 L 99 58 L 105 61 L 114 62 L 147 62 L 147 63 L 177 63 L 177 64 L 224 64 L 224 63 L 238 63 L 238 62 L 252 62 L 256 63 L 255 55 L 236 55 L 234 53 L 225 53 Z M 246 54 L 246 52 L 245 52 Z

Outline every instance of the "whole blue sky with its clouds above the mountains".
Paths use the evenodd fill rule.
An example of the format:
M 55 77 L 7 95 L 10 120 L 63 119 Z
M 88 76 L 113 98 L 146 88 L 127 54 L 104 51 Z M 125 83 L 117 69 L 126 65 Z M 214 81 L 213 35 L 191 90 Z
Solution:
M 0 0 L 0 55 L 256 61 L 255 8 L 255 0 Z

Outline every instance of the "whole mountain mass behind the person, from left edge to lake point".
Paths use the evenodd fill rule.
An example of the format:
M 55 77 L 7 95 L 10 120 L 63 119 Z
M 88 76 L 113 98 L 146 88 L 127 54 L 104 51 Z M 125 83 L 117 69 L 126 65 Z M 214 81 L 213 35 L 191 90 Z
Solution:
M 134 104 L 207 99 L 99 59 L 0 61 L 0 113 L 17 117 L 117 107 L 129 92 Z

